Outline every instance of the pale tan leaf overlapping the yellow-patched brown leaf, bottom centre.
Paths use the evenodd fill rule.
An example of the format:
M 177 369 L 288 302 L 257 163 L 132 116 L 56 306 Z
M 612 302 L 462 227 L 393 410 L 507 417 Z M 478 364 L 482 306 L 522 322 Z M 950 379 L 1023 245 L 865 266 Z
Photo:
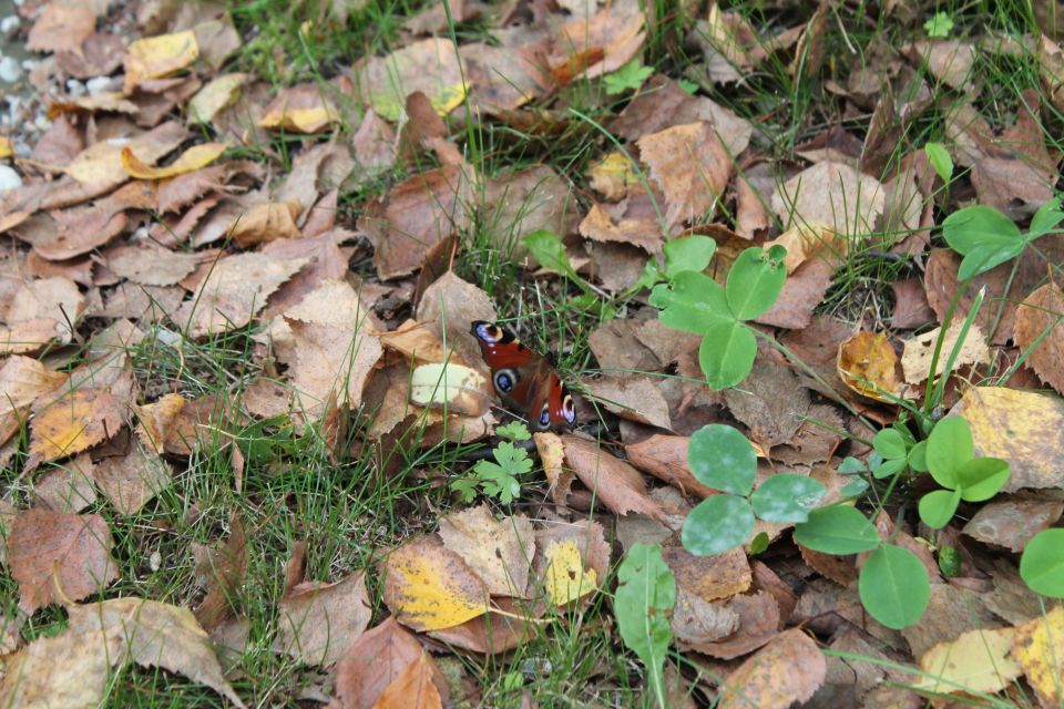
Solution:
M 535 554 L 535 533 L 528 517 L 497 521 L 481 504 L 440 520 L 439 534 L 443 546 L 461 556 L 493 596 L 524 595 Z

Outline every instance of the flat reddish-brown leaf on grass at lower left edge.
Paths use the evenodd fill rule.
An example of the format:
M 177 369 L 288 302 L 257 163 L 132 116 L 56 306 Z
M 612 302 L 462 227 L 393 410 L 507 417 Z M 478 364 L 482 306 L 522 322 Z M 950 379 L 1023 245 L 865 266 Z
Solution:
M 69 605 L 119 577 L 111 557 L 111 530 L 98 514 L 27 510 L 8 533 L 8 568 L 18 582 L 19 609 L 32 615 L 60 602 Z

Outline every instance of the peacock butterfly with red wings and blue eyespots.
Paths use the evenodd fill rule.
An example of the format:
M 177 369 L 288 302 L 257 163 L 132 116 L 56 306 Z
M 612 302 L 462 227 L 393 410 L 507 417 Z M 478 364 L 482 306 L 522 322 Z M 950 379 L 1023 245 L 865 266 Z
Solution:
M 491 368 L 491 382 L 500 399 L 525 412 L 532 427 L 541 431 L 576 424 L 573 397 L 545 357 L 493 322 L 474 320 L 472 333 Z

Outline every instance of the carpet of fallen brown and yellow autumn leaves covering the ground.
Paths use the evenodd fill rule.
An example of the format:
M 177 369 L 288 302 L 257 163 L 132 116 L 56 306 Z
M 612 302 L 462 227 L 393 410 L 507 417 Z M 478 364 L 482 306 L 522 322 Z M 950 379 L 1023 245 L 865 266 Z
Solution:
M 395 51 L 352 52 L 316 81 L 280 82 L 232 59 L 255 41 L 238 13 L 145 4 L 114 27 L 94 6 L 44 2 L 24 14 L 28 49 L 55 56 L 34 81 L 57 91 L 51 127 L 13 136 L 19 185 L 0 194 L 11 236 L 0 254 L 0 518 L 19 592 L 4 610 L 14 628 L 3 636 L 14 638 L 6 703 L 99 702 L 127 661 L 185 675 L 236 706 L 268 696 L 233 688 L 218 660 L 233 658 L 213 639 L 268 648 L 308 677 L 328 672 L 314 696 L 335 706 L 451 706 L 478 678 L 467 668 L 456 680 L 444 647 L 502 657 L 601 613 L 620 561 L 612 542 L 644 537 L 663 544 L 676 578 L 674 647 L 693 667 L 720 669 L 669 667 L 700 699 L 790 706 L 828 696 L 839 672 L 858 668 L 867 681 L 849 689 L 855 702 L 911 702 L 958 684 L 1007 693 L 1017 681 L 1058 702 L 1060 607 L 1021 613 L 1032 595 L 1016 577 L 1017 555 L 1060 524 L 1064 505 L 1064 427 L 1052 423 L 1064 387 L 1058 239 L 965 289 L 960 257 L 932 228 L 973 198 L 1024 223 L 1055 194 L 1060 153 L 1043 97 L 1017 91 L 1006 110 L 984 105 L 980 52 L 1004 50 L 917 34 L 899 49 L 878 40 L 867 65 L 825 63 L 827 6 L 759 27 L 710 3 L 687 28 L 700 63 L 635 72 L 587 121 L 579 90 L 613 91 L 659 51 L 665 35 L 635 2 L 526 12 L 452 2 L 450 19 L 482 22 L 490 41 L 460 33 L 456 48 L 448 12 L 429 8 L 405 18 Z M 351 11 L 334 3 L 300 37 Z M 1031 56 L 1060 107 L 1058 48 L 1043 37 Z M 284 63 L 274 71 L 293 71 Z M 763 131 L 778 109 L 756 99 L 776 70 L 822 80 L 840 109 L 790 126 L 798 135 L 784 151 Z M 61 78 L 102 78 L 106 89 L 81 95 Z M 968 171 L 950 189 L 907 132 L 932 96 L 945 150 Z M 498 164 L 469 143 L 485 126 L 509 132 L 492 148 Z M 520 158 L 508 152 L 515 135 Z M 556 160 L 574 136 L 586 155 Z M 523 240 L 543 232 L 561 259 Z M 677 238 L 704 234 L 716 239 L 709 273 L 722 284 L 747 246 L 787 248 L 781 295 L 753 325 L 787 349 L 763 342 L 750 377 L 724 393 L 706 390 L 698 338 L 664 327 L 638 292 L 668 267 Z M 852 277 L 852 264 L 877 259 L 900 270 L 877 271 L 871 286 Z M 947 322 L 948 311 L 968 315 L 981 287 L 971 327 L 956 315 Z M 597 427 L 536 432 L 514 449 L 539 458 L 520 476 L 520 512 L 443 495 L 475 459 L 424 456 L 443 441 L 499 440 L 509 414 L 469 331 L 500 316 L 533 349 L 559 350 L 551 361 L 579 392 L 577 420 Z M 931 371 L 940 335 L 949 371 L 943 357 Z M 242 363 L 203 369 L 205 357 L 234 352 Z M 1010 367 L 1007 387 L 992 380 Z M 839 499 L 836 469 L 868 459 L 869 427 L 889 425 L 904 400 L 920 405 L 929 377 L 945 378 L 941 413 L 970 422 L 976 454 L 1012 470 L 1007 494 L 969 505 L 941 536 L 913 518 L 880 525 L 928 566 L 937 620 L 897 634 L 861 617 L 866 559 L 791 545 L 788 525 L 757 527 L 770 554 L 753 565 L 749 549 L 696 557 L 678 543 L 692 505 L 720 492 L 688 466 L 689 433 L 735 425 L 757 444 L 759 484 L 789 472 Z M 345 506 L 357 522 L 341 544 L 380 535 L 371 553 L 337 565 L 299 542 L 257 646 L 254 567 L 287 553 L 257 532 L 291 524 L 305 491 L 287 491 L 294 507 L 241 497 L 253 514 L 226 511 L 226 542 L 195 547 L 196 590 L 126 593 L 116 540 L 171 530 L 172 520 L 144 521 L 172 504 L 164 497 L 192 495 L 188 523 L 226 518 L 188 486 L 202 456 L 221 446 L 232 495 L 244 495 L 248 476 L 293 484 L 293 441 L 317 441 L 338 471 L 365 464 L 359 474 L 380 489 L 398 472 L 423 482 L 400 493 L 413 511 L 403 531 L 364 532 L 381 517 Z M 318 524 L 293 528 L 328 534 Z M 960 549 L 962 576 L 939 573 L 935 540 Z M 321 573 L 307 575 L 307 554 Z M 28 629 L 57 605 L 65 630 Z

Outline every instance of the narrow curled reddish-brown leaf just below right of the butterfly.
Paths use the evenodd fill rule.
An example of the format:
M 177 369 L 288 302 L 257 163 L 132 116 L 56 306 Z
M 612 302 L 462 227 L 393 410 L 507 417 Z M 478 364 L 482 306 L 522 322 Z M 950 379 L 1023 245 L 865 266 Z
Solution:
M 647 495 L 646 483 L 638 471 L 605 452 L 593 441 L 574 435 L 563 435 L 565 460 L 580 482 L 616 514 L 630 512 L 645 514 L 655 520 L 665 520 L 665 512 Z

